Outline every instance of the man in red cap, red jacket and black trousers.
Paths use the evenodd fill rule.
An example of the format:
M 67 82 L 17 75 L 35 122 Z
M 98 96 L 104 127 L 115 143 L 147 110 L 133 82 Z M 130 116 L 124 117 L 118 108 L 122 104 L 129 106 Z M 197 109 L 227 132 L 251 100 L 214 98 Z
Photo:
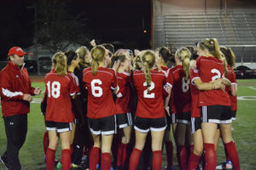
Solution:
M 27 131 L 27 113 L 32 95 L 41 93 L 41 88 L 32 88 L 24 55 L 19 47 L 9 49 L 8 65 L 0 72 L 0 94 L 7 150 L 1 161 L 8 169 L 20 170 L 19 150 L 24 144 Z

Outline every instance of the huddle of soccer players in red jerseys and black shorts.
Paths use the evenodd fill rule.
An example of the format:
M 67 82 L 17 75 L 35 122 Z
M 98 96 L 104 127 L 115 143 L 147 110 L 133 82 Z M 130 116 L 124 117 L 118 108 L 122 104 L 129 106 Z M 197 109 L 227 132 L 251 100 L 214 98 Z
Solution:
M 215 170 L 220 137 L 227 159 L 221 166 L 241 169 L 231 134 L 237 88 L 230 48 L 215 38 L 174 53 L 92 44 L 90 51 L 54 54 L 44 77 L 47 170 L 55 167 L 59 138 L 63 170 L 80 167 L 83 155 L 90 170 L 160 170 L 163 148 L 173 170 L 172 135 L 182 170 Z

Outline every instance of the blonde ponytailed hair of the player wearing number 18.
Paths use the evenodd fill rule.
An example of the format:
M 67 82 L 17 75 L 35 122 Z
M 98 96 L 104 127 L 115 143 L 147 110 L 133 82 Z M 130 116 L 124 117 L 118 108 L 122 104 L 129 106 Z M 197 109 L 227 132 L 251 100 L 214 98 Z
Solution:
M 54 54 L 52 62 L 55 64 L 55 71 L 59 76 L 67 75 L 67 57 L 65 54 L 61 52 Z

